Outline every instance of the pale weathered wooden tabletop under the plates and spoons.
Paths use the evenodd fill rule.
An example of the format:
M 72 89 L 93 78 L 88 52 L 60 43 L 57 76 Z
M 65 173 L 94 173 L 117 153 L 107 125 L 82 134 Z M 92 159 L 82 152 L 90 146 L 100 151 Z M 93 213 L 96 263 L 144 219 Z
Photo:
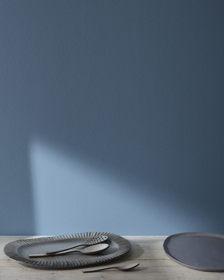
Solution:
M 100 267 L 110 264 L 131 264 L 139 266 L 131 271 L 119 270 L 83 273 L 82 268 L 31 268 L 10 260 L 3 252 L 5 244 L 26 238 L 42 236 L 0 236 L 0 279 L 1 280 L 70 280 L 70 279 L 153 279 L 153 280 L 224 280 L 224 272 L 205 272 L 185 268 L 171 259 L 163 251 L 166 236 L 124 236 L 131 242 L 132 250 L 117 260 L 95 265 Z M 92 266 L 88 266 L 92 267 Z M 87 268 L 87 266 L 86 266 Z

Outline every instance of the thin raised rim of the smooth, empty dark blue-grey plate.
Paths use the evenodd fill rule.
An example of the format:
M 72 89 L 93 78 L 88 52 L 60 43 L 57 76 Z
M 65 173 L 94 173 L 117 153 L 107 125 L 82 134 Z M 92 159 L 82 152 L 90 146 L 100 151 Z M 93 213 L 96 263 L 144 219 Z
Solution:
M 210 271 L 210 272 L 224 272 L 224 268 L 223 269 L 214 269 L 214 268 L 199 268 L 199 267 L 195 267 L 195 266 L 192 266 L 192 265 L 189 265 L 189 264 L 185 264 L 181 261 L 178 261 L 177 259 L 175 259 L 174 257 L 172 257 L 167 251 L 166 251 L 166 243 L 169 239 L 173 238 L 173 237 L 177 237 L 177 236 L 190 236 L 190 235 L 204 235 L 204 236 L 212 236 L 212 237 L 217 237 L 217 238 L 222 238 L 224 239 L 224 235 L 222 234 L 219 234 L 219 233 L 210 233 L 210 232 L 200 232 L 200 231 L 197 231 L 197 232 L 183 232 L 183 233 L 176 233 L 176 234 L 173 234 L 173 235 L 170 235 L 168 237 L 166 237 L 166 239 L 164 240 L 163 242 L 163 250 L 164 252 L 166 253 L 166 255 L 172 259 L 173 261 L 175 261 L 176 263 L 180 264 L 180 265 L 183 265 L 187 268 L 191 268 L 191 269 L 194 269 L 194 270 L 199 270 L 199 271 Z

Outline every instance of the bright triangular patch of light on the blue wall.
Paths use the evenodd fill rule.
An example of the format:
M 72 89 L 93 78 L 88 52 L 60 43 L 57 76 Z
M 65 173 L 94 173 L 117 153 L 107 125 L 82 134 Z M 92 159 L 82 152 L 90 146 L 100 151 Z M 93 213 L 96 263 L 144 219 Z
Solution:
M 165 235 L 200 228 L 204 219 L 185 213 L 158 187 L 124 172 L 115 174 L 80 154 L 36 138 L 30 143 L 37 235 L 108 231 Z M 190 215 L 189 215 L 190 213 Z

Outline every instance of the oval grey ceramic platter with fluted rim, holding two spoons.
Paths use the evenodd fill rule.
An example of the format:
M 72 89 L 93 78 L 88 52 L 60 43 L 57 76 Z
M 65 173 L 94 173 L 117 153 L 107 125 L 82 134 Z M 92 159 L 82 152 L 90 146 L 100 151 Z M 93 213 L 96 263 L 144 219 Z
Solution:
M 57 250 L 85 242 L 89 237 L 106 235 L 110 247 L 97 255 L 72 253 L 55 257 L 29 258 L 29 254 L 42 254 L 46 250 Z M 79 248 L 84 248 L 80 246 Z M 69 235 L 23 239 L 5 245 L 4 253 L 12 260 L 27 266 L 69 268 L 111 261 L 131 250 L 131 243 L 114 233 L 84 232 Z

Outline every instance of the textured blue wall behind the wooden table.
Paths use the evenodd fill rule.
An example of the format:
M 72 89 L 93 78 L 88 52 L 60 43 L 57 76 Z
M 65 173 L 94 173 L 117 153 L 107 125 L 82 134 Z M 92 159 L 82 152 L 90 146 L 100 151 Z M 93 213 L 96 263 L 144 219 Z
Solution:
M 0 1 L 0 233 L 224 234 L 223 14 Z

